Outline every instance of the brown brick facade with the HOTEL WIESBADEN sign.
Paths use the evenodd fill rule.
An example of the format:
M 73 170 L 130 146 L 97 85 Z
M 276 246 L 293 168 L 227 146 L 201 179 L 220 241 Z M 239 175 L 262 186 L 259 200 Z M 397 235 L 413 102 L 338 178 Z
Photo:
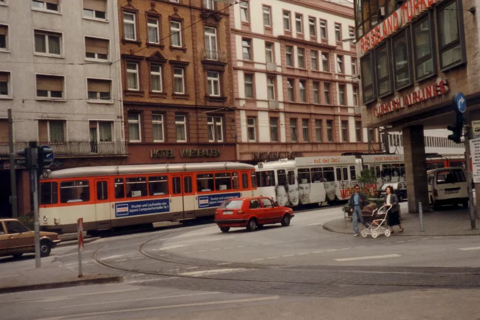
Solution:
M 228 6 L 119 1 L 128 163 L 236 160 Z

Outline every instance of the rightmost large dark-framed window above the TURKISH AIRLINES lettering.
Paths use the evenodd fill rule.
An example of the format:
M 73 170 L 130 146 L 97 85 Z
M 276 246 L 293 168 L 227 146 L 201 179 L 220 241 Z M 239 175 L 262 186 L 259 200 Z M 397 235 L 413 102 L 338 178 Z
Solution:
M 440 69 L 442 71 L 466 61 L 463 35 L 462 3 L 451 1 L 437 10 Z

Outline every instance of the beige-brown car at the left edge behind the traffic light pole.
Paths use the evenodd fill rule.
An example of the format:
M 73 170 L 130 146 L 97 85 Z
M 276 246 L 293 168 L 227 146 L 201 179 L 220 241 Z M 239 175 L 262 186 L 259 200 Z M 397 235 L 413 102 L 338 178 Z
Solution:
M 58 233 L 40 231 L 40 256 L 48 257 L 59 243 Z M 0 257 L 24 253 L 35 253 L 35 232 L 17 219 L 0 219 Z

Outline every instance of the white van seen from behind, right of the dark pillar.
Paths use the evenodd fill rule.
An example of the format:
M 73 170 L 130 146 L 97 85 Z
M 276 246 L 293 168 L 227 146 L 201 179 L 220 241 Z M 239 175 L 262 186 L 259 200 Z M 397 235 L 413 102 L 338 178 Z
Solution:
M 439 168 L 427 171 L 428 199 L 434 209 L 442 205 L 468 208 L 467 175 L 462 167 Z

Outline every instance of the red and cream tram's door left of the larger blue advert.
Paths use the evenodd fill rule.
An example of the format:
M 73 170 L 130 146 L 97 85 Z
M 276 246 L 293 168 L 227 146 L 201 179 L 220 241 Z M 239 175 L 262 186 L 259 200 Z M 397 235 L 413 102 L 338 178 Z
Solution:
M 108 200 L 108 180 L 95 179 L 95 229 L 110 229 L 112 227 L 111 212 L 115 217 L 115 208 L 111 208 Z M 113 198 L 113 195 L 110 195 Z M 85 219 L 86 220 L 86 219 Z M 89 219 L 90 220 L 90 219 Z

